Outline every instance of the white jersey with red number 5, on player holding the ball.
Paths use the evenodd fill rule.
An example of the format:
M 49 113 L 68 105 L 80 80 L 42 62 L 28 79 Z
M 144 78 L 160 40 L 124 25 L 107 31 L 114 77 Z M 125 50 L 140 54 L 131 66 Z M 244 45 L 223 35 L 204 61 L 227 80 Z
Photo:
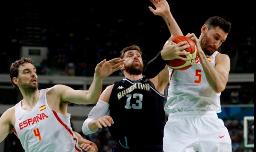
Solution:
M 206 56 L 215 67 L 215 51 Z M 197 57 L 195 64 L 187 70 L 173 70 L 168 68 L 170 84 L 164 110 L 166 113 L 177 111 L 216 111 L 220 113 L 220 93 L 214 92 L 206 80 L 204 70 Z

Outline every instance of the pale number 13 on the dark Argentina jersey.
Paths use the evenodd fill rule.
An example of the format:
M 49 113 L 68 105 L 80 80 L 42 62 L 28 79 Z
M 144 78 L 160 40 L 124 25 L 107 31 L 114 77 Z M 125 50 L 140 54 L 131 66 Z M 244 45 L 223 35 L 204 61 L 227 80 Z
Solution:
M 142 94 L 133 94 L 133 99 L 136 99 L 136 104 L 132 104 L 132 106 L 130 106 L 130 102 L 131 102 L 131 94 L 127 94 L 126 97 L 126 105 L 125 105 L 125 109 L 142 109 L 142 99 L 143 99 L 143 95 Z

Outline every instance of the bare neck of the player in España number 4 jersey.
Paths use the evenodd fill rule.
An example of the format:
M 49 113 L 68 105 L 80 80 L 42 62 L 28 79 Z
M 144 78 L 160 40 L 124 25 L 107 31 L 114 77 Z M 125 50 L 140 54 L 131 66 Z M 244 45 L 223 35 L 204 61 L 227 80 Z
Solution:
M 26 92 L 21 90 L 21 94 L 23 96 L 22 104 L 33 107 L 38 101 L 40 92 L 38 89 L 35 92 Z

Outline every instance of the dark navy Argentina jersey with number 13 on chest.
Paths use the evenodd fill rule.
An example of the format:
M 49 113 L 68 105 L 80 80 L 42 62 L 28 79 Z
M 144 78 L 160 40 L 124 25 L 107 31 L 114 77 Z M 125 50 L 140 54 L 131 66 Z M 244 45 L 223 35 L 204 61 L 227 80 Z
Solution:
M 109 131 L 120 145 L 163 145 L 164 95 L 149 79 L 115 82 L 109 104 L 114 120 Z

